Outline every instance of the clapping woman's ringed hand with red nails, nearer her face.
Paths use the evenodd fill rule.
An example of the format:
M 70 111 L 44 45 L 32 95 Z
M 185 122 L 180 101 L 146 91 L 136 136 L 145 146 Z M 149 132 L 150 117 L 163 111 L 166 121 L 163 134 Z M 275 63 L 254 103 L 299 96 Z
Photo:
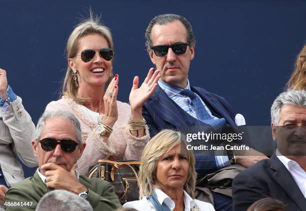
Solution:
M 118 94 L 119 76 L 115 77 L 109 83 L 104 97 L 104 118 L 103 123 L 112 127 L 118 119 L 117 94 Z

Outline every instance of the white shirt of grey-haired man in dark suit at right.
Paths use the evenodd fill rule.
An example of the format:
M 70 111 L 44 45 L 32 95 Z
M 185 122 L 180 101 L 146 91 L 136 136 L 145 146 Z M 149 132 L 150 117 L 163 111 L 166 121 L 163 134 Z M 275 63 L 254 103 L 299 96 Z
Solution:
M 282 164 L 289 171 L 298 188 L 306 198 L 306 172 L 299 166 L 297 162 L 281 155 L 278 149 L 276 149 L 276 155 L 280 162 L 282 162 Z

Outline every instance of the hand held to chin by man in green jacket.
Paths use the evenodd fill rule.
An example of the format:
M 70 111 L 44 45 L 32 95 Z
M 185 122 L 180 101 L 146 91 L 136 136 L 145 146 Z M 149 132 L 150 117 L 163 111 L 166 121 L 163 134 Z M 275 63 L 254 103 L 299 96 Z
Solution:
M 46 170 L 44 172 L 46 179 L 46 186 L 49 189 L 63 189 L 74 193 L 81 193 L 87 190 L 76 177 L 74 164 L 70 171 L 66 171 L 56 163 L 43 164 L 41 169 Z

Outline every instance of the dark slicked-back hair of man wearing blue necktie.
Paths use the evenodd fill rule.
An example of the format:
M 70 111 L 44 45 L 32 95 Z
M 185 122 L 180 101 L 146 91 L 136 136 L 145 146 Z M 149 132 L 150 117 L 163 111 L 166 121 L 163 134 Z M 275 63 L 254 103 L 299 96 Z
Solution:
M 151 39 L 151 32 L 152 32 L 153 26 L 155 24 L 166 25 L 174 21 L 180 21 L 184 25 L 185 29 L 187 30 L 187 43 L 189 47 L 195 45 L 195 38 L 193 36 L 192 27 L 186 18 L 179 16 L 179 15 L 175 15 L 175 14 L 162 14 L 162 15 L 155 16 L 148 23 L 144 31 L 145 46 L 148 51 L 152 51 L 151 47 L 153 47 L 152 39 Z

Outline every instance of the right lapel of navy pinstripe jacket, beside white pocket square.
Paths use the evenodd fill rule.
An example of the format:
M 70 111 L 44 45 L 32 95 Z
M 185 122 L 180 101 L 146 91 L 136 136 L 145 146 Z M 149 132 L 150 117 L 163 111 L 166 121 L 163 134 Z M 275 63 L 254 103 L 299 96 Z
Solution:
M 223 108 L 223 106 L 218 102 L 218 100 L 216 100 L 213 96 L 207 95 L 206 90 L 200 87 L 191 87 L 191 90 L 195 91 L 196 94 L 198 94 L 202 98 L 209 110 L 213 109 L 213 112 L 215 112 L 219 118 L 224 118 L 227 124 L 231 126 L 236 126 L 235 122 L 232 120 L 233 117 L 230 117 L 228 112 Z

